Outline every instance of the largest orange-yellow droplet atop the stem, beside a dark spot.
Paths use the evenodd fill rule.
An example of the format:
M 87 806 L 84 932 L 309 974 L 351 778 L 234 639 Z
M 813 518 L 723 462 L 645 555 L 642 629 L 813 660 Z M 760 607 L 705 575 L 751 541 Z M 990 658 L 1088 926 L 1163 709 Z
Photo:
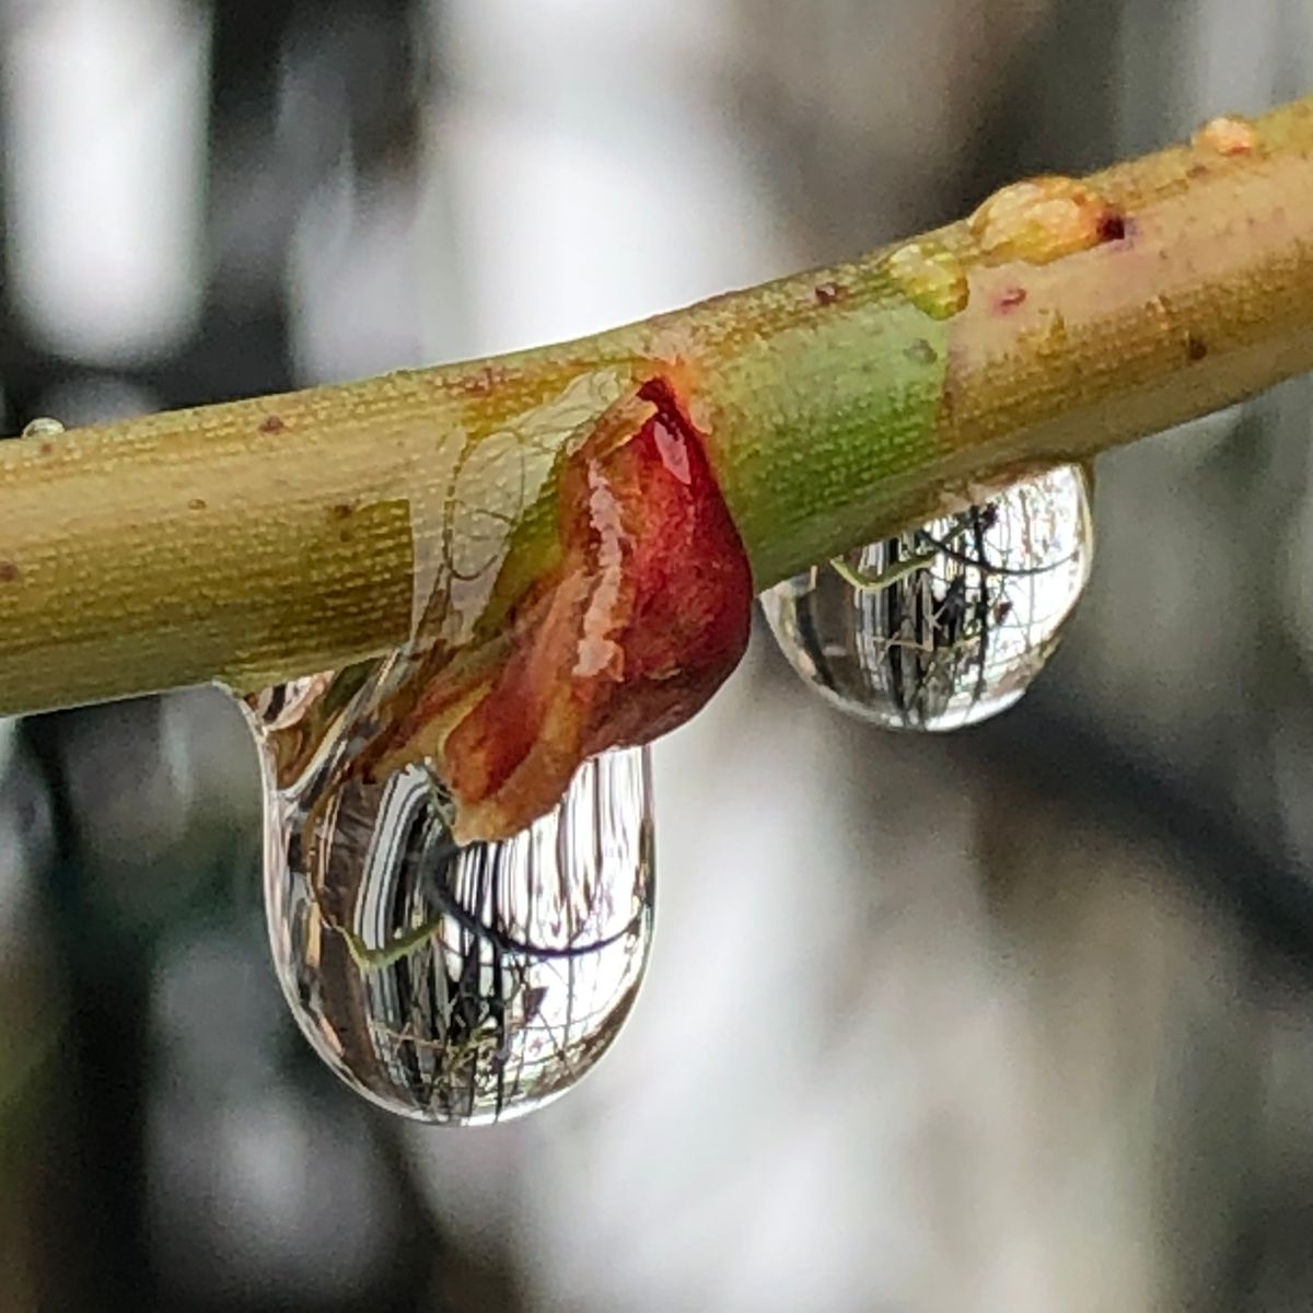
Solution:
M 1049 264 L 1125 234 L 1123 215 L 1070 177 L 1035 177 L 1004 186 L 966 222 L 993 264 Z

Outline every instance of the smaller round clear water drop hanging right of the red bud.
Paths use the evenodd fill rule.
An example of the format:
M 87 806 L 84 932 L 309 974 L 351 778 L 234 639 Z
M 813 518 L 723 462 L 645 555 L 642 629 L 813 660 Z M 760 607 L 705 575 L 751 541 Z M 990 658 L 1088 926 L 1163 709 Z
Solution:
M 830 701 L 890 729 L 951 730 L 1025 692 L 1092 557 L 1088 482 L 1064 465 L 785 580 L 762 604 Z

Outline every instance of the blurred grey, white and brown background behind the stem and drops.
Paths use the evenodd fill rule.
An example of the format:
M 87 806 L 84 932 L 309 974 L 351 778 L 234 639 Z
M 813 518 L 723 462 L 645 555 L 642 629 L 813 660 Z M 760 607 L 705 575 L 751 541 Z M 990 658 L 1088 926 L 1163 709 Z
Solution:
M 592 331 L 1310 81 L 1308 0 L 0 0 L 4 431 Z M 759 633 L 656 748 L 624 1036 L 491 1130 L 310 1056 L 221 693 L 0 722 L 0 1309 L 1313 1308 L 1310 436 L 1301 379 L 1102 461 L 981 729 Z

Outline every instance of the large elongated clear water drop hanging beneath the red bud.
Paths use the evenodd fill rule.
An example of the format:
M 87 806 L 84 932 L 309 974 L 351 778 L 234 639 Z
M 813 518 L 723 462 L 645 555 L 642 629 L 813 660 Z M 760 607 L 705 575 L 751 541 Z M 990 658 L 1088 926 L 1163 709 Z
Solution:
M 460 847 L 424 767 L 352 769 L 377 687 L 344 671 L 246 704 L 274 968 L 311 1045 L 365 1098 L 450 1125 L 515 1117 L 591 1070 L 637 995 L 647 754 L 604 754 L 528 830 Z

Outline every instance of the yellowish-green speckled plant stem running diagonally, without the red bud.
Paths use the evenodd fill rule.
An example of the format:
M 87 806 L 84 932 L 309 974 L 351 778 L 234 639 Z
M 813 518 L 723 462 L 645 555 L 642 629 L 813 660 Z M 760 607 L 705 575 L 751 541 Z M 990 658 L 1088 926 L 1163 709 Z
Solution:
M 666 378 L 758 586 L 1313 368 L 1313 101 L 541 351 L 0 444 L 0 713 L 495 629 Z

